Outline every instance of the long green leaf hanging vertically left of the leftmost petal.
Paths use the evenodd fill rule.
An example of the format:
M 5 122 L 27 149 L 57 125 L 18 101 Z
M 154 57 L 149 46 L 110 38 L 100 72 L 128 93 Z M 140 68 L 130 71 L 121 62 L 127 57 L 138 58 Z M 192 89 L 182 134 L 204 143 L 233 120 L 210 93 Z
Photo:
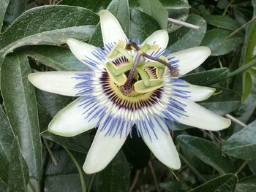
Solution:
M 1 66 L 1 91 L 8 119 L 20 139 L 23 157 L 30 172 L 42 175 L 42 146 L 34 87 L 28 80 L 31 72 L 26 55 L 10 54 Z

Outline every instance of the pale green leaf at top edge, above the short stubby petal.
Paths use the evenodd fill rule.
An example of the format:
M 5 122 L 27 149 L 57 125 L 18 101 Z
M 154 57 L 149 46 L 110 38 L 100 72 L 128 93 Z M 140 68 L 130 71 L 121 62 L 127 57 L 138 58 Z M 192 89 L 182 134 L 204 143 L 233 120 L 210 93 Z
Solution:
M 168 12 L 158 0 L 139 0 L 143 12 L 157 20 L 161 28 L 167 28 Z

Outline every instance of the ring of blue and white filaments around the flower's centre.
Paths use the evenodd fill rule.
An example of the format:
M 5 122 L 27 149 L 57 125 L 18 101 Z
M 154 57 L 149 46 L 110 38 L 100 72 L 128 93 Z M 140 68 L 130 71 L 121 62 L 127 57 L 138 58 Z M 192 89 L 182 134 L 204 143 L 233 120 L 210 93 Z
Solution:
M 138 40 L 137 42 L 139 44 L 140 41 Z M 162 111 L 159 112 L 161 115 L 154 115 L 151 113 L 144 114 L 144 111 L 141 111 L 141 113 L 144 114 L 142 118 L 131 119 L 129 118 L 129 115 L 128 117 L 124 116 L 124 113 L 122 115 L 116 114 L 108 105 L 102 104 L 102 101 L 100 101 L 97 96 L 94 96 L 94 93 L 97 93 L 97 88 L 94 85 L 99 85 L 99 82 L 95 82 L 97 78 L 95 78 L 94 69 L 100 68 L 102 62 L 108 61 L 108 55 L 115 45 L 116 43 L 109 43 L 108 45 L 105 45 L 105 47 L 98 47 L 91 52 L 90 57 L 85 56 L 83 61 L 91 66 L 92 70 L 80 72 L 76 74 L 75 77 L 72 77 L 79 81 L 75 85 L 75 88 L 80 89 L 77 94 L 77 96 L 80 97 L 78 99 L 80 102 L 78 107 L 83 107 L 86 120 L 91 121 L 95 118 L 99 119 L 97 128 L 99 128 L 99 131 L 104 131 L 105 137 L 116 137 L 119 135 L 121 138 L 123 137 L 123 134 L 125 134 L 126 137 L 130 134 L 130 137 L 132 137 L 132 127 L 136 125 L 138 137 L 148 137 L 151 141 L 159 139 L 156 127 L 167 134 L 167 130 L 165 130 L 164 126 L 173 129 L 173 123 L 178 123 L 178 118 L 187 116 L 187 112 L 184 108 L 186 107 L 186 104 L 174 99 L 172 96 L 181 99 L 189 99 L 190 92 L 184 90 L 184 88 L 188 88 L 188 85 L 185 85 L 183 83 L 184 80 L 181 80 L 179 77 L 170 77 L 168 83 L 171 84 L 171 93 L 168 94 L 171 94 L 172 96 L 170 96 L 169 101 L 166 106 L 162 108 Z M 159 48 L 159 50 L 153 51 L 150 55 L 156 58 L 165 55 L 167 56 L 167 63 L 178 69 L 179 61 L 175 60 L 174 57 L 170 57 L 169 54 L 165 52 L 165 49 Z M 167 71 L 168 70 L 169 69 L 167 69 Z M 112 103 L 112 105 L 115 106 L 115 103 Z M 118 106 L 116 107 L 118 108 Z M 128 110 L 128 112 L 136 112 L 134 109 L 126 110 Z

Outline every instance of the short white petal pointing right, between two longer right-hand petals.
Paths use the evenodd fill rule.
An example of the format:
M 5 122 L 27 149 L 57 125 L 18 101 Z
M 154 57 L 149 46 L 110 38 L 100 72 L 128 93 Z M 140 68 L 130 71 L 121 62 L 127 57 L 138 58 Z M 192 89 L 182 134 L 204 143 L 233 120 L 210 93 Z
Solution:
M 189 99 L 192 101 L 204 101 L 208 99 L 216 91 L 215 88 L 192 85 L 188 82 L 182 82 L 182 84 L 187 85 L 187 87 L 174 87 L 174 88 L 178 90 L 189 91 L 189 93 L 187 93 L 187 96 L 189 96 Z

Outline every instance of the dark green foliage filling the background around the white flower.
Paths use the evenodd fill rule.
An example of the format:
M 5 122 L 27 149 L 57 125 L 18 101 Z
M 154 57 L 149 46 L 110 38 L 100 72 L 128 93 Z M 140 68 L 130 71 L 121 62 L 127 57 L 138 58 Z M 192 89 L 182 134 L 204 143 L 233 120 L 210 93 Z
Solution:
M 165 28 L 170 54 L 197 46 L 211 49 L 203 65 L 182 79 L 216 88 L 199 104 L 242 123 L 223 131 L 174 124 L 181 157 L 181 169 L 174 172 L 178 180 L 136 131 L 97 174 L 82 170 L 94 129 L 75 137 L 47 131 L 50 120 L 74 98 L 39 91 L 27 76 L 31 69 L 85 70 L 64 44 L 71 37 L 102 46 L 102 9 L 112 12 L 134 41 Z M 81 183 L 87 191 L 256 191 L 255 16 L 255 0 L 0 0 L 0 191 L 85 191 Z M 247 69 L 250 64 L 255 65 Z

